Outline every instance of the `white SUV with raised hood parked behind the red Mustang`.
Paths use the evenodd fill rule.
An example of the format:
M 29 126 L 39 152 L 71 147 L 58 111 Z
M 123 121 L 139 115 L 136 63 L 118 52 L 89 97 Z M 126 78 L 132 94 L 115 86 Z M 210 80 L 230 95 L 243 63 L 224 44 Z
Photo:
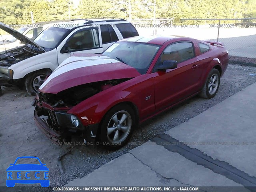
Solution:
M 0 28 L 25 44 L 0 52 L 0 85 L 24 80 L 32 95 L 46 76 L 72 54 L 101 53 L 120 39 L 138 36 L 134 26 L 124 19 L 75 19 L 47 24 L 34 41 L 3 23 Z

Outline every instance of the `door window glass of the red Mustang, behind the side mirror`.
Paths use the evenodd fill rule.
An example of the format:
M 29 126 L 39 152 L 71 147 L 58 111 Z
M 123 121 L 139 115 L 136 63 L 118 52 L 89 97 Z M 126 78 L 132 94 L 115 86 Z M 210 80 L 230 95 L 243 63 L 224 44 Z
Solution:
M 165 48 L 161 55 L 161 62 L 164 60 L 175 60 L 180 63 L 193 57 L 194 49 L 192 43 L 180 42 Z

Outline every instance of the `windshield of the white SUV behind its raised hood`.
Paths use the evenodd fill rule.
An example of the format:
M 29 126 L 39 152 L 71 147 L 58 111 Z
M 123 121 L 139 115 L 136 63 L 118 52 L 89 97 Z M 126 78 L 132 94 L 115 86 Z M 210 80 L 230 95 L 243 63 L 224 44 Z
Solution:
M 68 29 L 49 27 L 42 31 L 34 40 L 38 45 L 43 48 L 53 49 L 60 42 Z

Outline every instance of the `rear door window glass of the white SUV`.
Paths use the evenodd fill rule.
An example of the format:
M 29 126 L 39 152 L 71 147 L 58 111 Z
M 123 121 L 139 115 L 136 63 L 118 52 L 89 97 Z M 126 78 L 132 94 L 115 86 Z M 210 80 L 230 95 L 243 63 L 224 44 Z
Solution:
M 100 26 L 102 44 L 118 41 L 116 32 L 110 24 Z

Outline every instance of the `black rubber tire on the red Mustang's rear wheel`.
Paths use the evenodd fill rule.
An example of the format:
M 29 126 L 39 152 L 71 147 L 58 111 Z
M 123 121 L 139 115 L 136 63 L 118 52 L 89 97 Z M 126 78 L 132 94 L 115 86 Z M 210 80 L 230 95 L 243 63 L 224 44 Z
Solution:
M 215 89 L 215 87 L 212 88 L 212 89 L 215 89 L 215 91 L 210 93 L 208 87 L 210 86 L 210 80 L 213 76 L 216 76 L 216 80 L 218 80 L 218 85 L 217 85 L 216 89 Z M 216 82 L 216 81 L 214 81 L 214 82 Z M 220 86 L 220 72 L 217 69 L 212 69 L 210 71 L 210 73 L 208 74 L 208 77 L 206 78 L 206 82 L 204 83 L 204 87 L 202 88 L 202 91 L 199 95 L 202 98 L 211 99 L 218 92 L 219 86 Z

